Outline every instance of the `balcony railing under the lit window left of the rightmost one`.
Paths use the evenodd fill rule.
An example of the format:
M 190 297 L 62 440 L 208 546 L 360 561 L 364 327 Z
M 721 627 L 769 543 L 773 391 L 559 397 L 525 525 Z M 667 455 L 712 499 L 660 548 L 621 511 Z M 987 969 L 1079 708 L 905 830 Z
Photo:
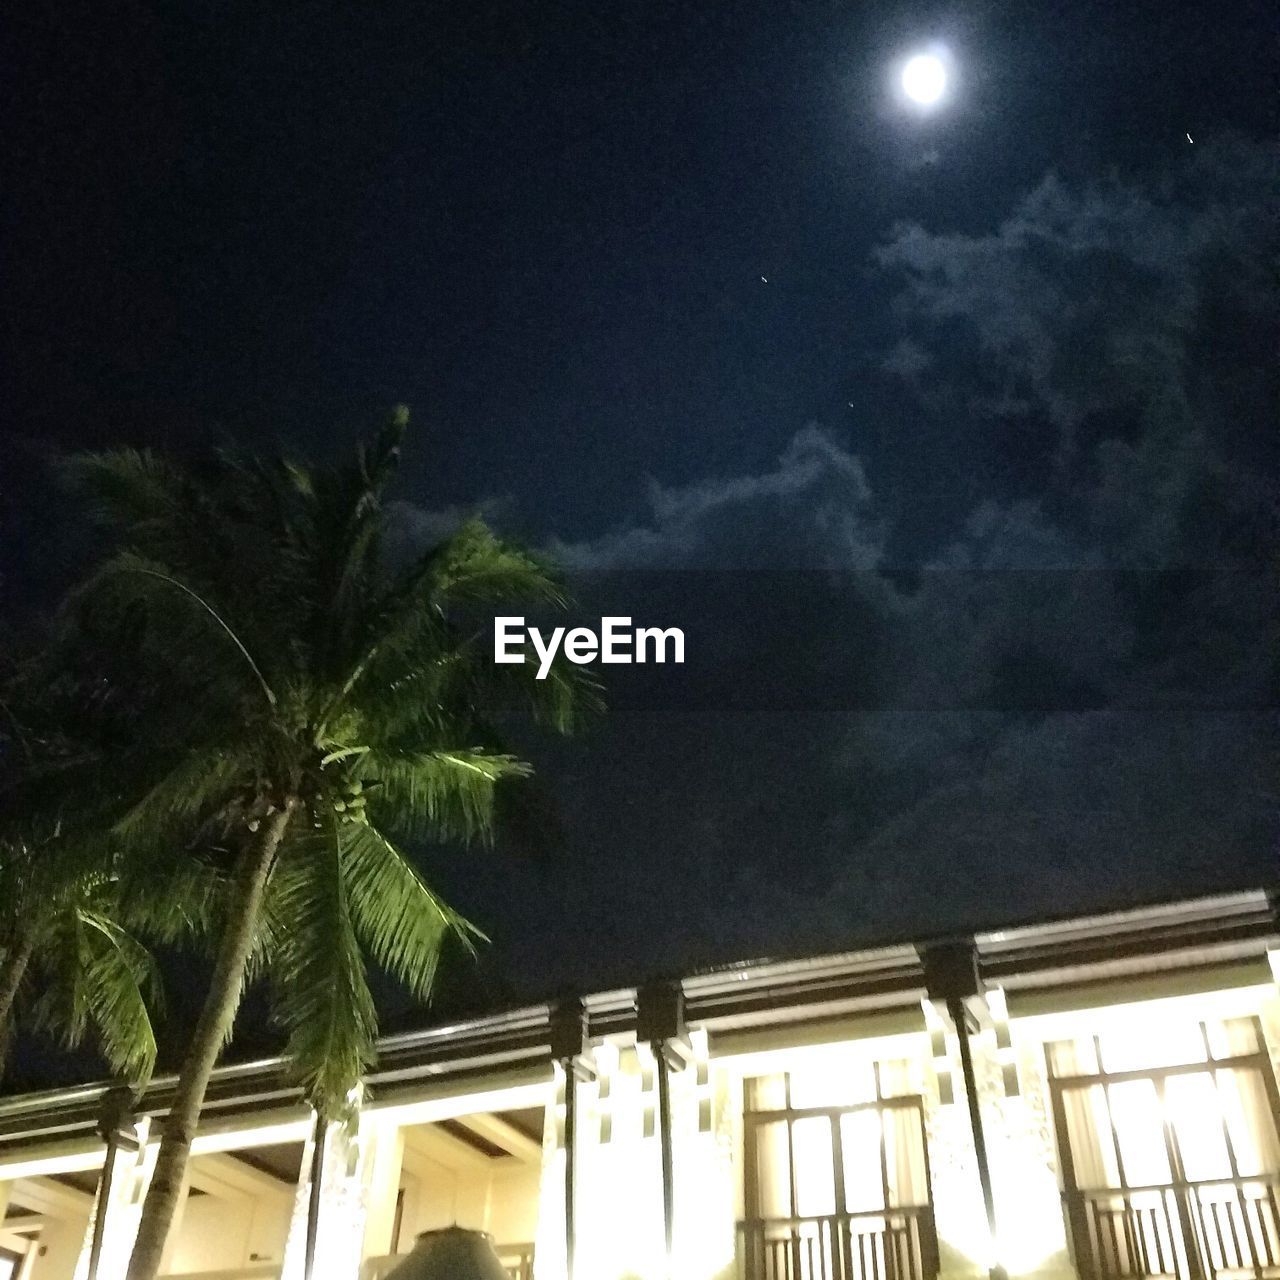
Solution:
M 739 1224 L 744 1280 L 937 1280 L 927 1206 Z

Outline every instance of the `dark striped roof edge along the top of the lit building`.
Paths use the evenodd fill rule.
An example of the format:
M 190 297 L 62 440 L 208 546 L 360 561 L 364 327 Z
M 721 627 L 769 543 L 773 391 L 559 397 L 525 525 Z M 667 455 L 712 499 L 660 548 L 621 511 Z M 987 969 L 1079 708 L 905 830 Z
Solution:
M 799 1025 L 877 1010 L 919 1007 L 928 995 L 923 957 L 942 943 L 972 948 L 980 984 L 1028 993 L 1080 983 L 1185 973 L 1266 961 L 1280 947 L 1276 904 L 1262 890 L 1156 904 L 1101 915 L 1019 924 L 960 938 L 899 942 L 792 960 L 751 960 L 676 979 L 689 1024 L 713 1042 L 751 1028 Z M 639 989 L 584 997 L 590 1037 L 635 1034 Z M 488 1016 L 384 1036 L 366 1082 L 376 1097 L 424 1082 L 465 1087 L 506 1073 L 550 1070 L 554 1007 L 534 1004 Z M 163 1116 L 177 1076 L 156 1076 L 137 1111 Z M 0 1151 L 95 1133 L 97 1082 L 0 1098 Z M 220 1066 L 205 1116 L 298 1110 L 302 1098 L 283 1057 Z

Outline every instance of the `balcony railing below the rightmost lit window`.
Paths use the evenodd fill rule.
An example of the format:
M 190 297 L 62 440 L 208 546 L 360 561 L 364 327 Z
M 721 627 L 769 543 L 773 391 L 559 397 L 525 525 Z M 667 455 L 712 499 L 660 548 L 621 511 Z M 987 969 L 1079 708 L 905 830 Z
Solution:
M 1275 1178 L 1073 1192 L 1066 1201 L 1088 1280 L 1280 1280 Z

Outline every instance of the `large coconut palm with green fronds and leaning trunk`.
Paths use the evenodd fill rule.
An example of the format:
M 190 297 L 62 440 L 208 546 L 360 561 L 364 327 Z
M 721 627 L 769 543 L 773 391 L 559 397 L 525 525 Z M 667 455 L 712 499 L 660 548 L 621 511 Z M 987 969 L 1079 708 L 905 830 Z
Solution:
M 223 452 L 76 460 L 116 549 L 72 614 L 164 690 L 163 767 L 116 826 L 134 876 L 209 888 L 193 922 L 214 969 L 143 1206 L 129 1280 L 152 1280 L 192 1134 L 241 992 L 262 974 L 305 1093 L 338 1116 L 371 1061 L 365 954 L 428 998 L 448 937 L 476 931 L 401 840 L 489 836 L 494 795 L 530 765 L 516 710 L 568 732 L 594 701 L 577 668 L 495 667 L 484 611 L 562 607 L 532 554 L 472 521 L 408 563 L 384 503 L 407 411 L 343 466 Z M 198 895 L 197 895 L 198 896 Z

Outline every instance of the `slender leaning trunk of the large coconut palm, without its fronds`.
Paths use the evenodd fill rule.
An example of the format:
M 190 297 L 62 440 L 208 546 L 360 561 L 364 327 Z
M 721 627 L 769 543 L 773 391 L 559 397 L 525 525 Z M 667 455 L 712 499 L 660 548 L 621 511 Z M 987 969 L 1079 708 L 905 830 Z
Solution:
M 264 822 L 259 840 L 244 851 L 236 869 L 236 883 L 218 947 L 218 960 L 205 997 L 205 1007 L 201 1010 L 187 1048 L 187 1057 L 182 1064 L 178 1089 L 165 1119 L 160 1153 L 142 1206 L 142 1221 L 138 1224 L 138 1236 L 129 1260 L 128 1280 L 155 1280 L 160 1271 L 160 1257 L 178 1208 L 182 1180 L 191 1156 L 191 1139 L 200 1120 L 205 1091 L 209 1088 L 209 1078 L 218 1055 L 236 1021 L 268 876 L 296 805 L 297 801 L 291 799 L 283 809 Z

